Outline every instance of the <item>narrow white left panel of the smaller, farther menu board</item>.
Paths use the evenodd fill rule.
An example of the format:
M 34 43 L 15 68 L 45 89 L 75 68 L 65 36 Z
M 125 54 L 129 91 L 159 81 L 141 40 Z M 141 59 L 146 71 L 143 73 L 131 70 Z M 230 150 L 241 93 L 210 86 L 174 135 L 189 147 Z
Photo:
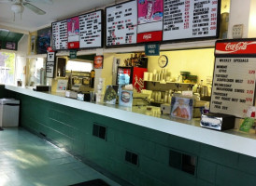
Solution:
M 67 49 L 67 22 L 66 20 L 52 23 L 53 49 Z

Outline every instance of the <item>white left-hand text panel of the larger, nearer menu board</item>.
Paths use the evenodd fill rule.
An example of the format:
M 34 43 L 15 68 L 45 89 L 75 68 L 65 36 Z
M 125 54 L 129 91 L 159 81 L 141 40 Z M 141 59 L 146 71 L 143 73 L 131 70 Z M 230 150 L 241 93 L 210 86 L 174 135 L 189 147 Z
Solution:
M 129 1 L 106 8 L 107 46 L 136 43 L 136 1 Z

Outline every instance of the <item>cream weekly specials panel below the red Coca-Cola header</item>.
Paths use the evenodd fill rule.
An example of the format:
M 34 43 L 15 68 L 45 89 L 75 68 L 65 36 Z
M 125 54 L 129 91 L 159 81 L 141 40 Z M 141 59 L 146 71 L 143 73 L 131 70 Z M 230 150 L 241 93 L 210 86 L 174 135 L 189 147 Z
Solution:
M 253 105 L 256 59 L 217 58 L 210 103 L 211 113 L 244 117 Z

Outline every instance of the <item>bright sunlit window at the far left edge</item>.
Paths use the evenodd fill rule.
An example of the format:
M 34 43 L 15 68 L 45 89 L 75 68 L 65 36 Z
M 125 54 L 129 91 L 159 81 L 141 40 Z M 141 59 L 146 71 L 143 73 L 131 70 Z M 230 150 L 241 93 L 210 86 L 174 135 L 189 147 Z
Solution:
M 0 52 L 0 83 L 14 84 L 15 81 L 15 54 Z

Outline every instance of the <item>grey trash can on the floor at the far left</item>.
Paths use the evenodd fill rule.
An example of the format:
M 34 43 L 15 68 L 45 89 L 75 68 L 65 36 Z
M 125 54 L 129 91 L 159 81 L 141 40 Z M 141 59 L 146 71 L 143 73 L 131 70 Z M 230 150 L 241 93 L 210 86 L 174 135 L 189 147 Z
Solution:
M 0 99 L 0 127 L 19 126 L 20 100 Z

